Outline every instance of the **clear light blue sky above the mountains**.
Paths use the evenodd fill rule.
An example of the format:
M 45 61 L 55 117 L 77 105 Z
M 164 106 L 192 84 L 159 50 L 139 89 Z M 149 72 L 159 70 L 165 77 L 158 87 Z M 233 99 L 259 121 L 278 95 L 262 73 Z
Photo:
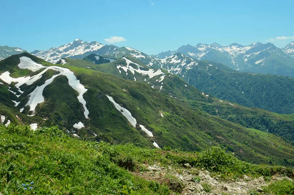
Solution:
M 186 44 L 294 41 L 294 0 L 0 0 L 0 45 L 29 52 L 111 37 L 147 54 Z M 118 38 L 121 37 L 121 38 Z M 124 41 L 122 41 L 124 40 Z

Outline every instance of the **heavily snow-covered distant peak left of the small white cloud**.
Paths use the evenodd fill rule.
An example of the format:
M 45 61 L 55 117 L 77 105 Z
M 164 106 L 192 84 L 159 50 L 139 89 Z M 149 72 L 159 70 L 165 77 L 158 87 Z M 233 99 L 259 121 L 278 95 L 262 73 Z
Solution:
M 53 47 L 49 50 L 38 51 L 35 50 L 31 54 L 40 57 L 51 63 L 56 63 L 61 58 L 73 57 L 73 58 L 83 58 L 91 53 L 95 53 L 97 50 L 102 48 L 104 45 L 96 41 L 93 42 L 83 42 L 80 39 L 75 39 L 73 42 L 62 45 L 60 47 Z

